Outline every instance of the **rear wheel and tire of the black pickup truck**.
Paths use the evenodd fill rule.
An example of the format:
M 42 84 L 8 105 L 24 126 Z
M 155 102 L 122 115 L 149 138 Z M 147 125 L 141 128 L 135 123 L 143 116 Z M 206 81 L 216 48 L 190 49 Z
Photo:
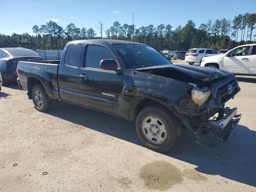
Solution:
M 45 112 L 52 107 L 52 99 L 50 99 L 41 84 L 37 84 L 32 89 L 32 100 L 36 110 Z

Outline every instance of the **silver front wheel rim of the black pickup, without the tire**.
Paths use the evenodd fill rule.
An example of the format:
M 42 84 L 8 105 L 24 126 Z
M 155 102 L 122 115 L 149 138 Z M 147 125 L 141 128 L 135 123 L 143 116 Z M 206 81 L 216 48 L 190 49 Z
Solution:
M 167 129 L 164 122 L 155 116 L 148 116 L 143 120 L 142 132 L 154 144 L 164 142 L 167 136 Z

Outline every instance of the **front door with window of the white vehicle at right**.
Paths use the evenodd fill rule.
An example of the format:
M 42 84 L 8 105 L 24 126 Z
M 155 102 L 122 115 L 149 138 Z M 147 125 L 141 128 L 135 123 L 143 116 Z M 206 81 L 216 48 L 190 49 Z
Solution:
M 243 46 L 230 51 L 223 60 L 224 70 L 232 73 L 247 73 L 250 63 L 250 46 Z

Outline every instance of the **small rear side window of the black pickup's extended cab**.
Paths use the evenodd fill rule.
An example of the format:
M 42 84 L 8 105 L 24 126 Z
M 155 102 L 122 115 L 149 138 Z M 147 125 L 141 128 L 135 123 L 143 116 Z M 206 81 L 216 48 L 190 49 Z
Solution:
M 70 44 L 66 52 L 65 64 L 73 67 L 78 66 L 82 44 Z

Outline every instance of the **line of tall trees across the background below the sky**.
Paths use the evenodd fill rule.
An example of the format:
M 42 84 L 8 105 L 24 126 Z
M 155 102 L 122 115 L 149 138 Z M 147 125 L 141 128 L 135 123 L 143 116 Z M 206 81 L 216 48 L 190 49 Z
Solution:
M 185 26 L 173 28 L 170 24 L 137 27 L 134 24 L 123 24 L 115 21 L 106 29 L 103 21 L 98 22 L 97 35 L 93 28 L 78 28 L 70 23 L 63 29 L 56 22 L 49 21 L 42 26 L 33 26 L 35 35 L 28 33 L 11 36 L 0 34 L 0 47 L 16 46 L 19 42 L 32 42 L 36 49 L 62 50 L 67 42 L 80 39 L 118 39 L 148 44 L 158 50 L 188 50 L 190 48 L 231 49 L 241 44 L 254 43 L 252 36 L 256 27 L 256 14 L 245 13 L 235 16 L 234 20 L 212 21 L 200 24 L 189 20 Z M 104 36 L 105 34 L 105 36 Z M 254 39 L 254 41 L 253 41 Z

